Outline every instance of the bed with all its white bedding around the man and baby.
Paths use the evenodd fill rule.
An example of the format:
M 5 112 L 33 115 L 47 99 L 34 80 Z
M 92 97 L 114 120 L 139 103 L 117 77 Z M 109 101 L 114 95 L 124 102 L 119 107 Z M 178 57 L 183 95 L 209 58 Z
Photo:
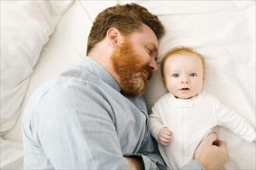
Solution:
M 175 46 L 206 56 L 204 89 L 255 128 L 255 1 L 1 1 L 1 169 L 22 169 L 21 120 L 41 83 L 85 57 L 89 30 L 104 8 L 137 2 L 166 27 L 159 57 Z M 148 82 L 147 109 L 167 91 Z M 228 149 L 225 169 L 256 169 L 255 144 L 216 128 Z

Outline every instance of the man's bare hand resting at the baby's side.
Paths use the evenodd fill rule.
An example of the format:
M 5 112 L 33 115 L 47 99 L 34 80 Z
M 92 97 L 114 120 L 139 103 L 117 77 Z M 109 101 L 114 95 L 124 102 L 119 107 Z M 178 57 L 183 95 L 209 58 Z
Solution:
M 206 169 L 223 169 L 227 162 L 226 145 L 217 139 L 215 133 L 211 133 L 196 149 L 195 160 Z

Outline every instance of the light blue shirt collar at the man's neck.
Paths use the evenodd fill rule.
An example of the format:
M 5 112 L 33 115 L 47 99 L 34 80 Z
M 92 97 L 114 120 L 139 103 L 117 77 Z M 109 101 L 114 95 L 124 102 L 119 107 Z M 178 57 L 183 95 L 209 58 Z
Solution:
M 109 84 L 110 87 L 119 93 L 121 92 L 121 87 L 116 82 L 114 77 L 112 77 L 111 74 L 100 63 L 95 61 L 95 59 L 92 59 L 90 56 L 85 57 L 85 63 L 82 64 L 82 66 L 88 68 L 88 70 L 90 70 L 96 76 L 99 76 L 104 82 Z

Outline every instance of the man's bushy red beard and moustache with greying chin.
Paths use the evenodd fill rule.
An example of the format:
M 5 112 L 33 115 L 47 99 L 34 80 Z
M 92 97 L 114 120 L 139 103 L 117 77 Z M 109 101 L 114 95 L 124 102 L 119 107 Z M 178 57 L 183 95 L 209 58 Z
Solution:
M 111 56 L 112 66 L 119 75 L 122 93 L 133 97 L 140 96 L 146 90 L 147 80 L 153 75 L 150 66 L 144 63 L 143 57 L 135 53 L 130 42 L 124 41 Z M 148 77 L 144 76 L 147 71 Z

